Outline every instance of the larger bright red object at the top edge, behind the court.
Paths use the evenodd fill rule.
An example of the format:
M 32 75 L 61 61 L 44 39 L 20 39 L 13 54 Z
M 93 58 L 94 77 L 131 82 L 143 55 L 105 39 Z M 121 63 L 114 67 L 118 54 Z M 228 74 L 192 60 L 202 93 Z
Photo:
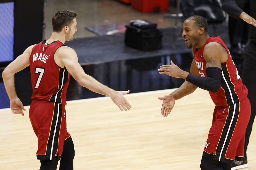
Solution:
M 132 8 L 141 12 L 165 11 L 169 9 L 169 0 L 132 0 Z

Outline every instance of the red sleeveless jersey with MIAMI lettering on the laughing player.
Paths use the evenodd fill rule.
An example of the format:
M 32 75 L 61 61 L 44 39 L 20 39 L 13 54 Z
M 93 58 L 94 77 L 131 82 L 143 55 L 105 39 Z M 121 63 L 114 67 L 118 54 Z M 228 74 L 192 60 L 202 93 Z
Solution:
M 227 46 L 219 36 L 210 37 L 202 48 L 195 50 L 196 68 L 199 71 L 200 76 L 207 77 L 205 70 L 206 61 L 204 60 L 204 47 L 209 42 L 220 43 L 228 53 L 228 60 L 225 63 L 221 63 L 222 71 L 220 89 L 216 93 L 209 91 L 212 101 L 216 106 L 225 107 L 244 100 L 247 97 L 248 90 L 244 86 L 242 79 L 238 74 Z

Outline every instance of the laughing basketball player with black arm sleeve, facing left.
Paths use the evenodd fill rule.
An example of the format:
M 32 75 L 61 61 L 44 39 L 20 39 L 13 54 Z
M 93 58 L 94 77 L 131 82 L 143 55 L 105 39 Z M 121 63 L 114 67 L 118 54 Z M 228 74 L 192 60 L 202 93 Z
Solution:
M 244 156 L 245 129 L 250 119 L 251 106 L 247 89 L 243 85 L 227 46 L 219 36 L 207 33 L 207 21 L 201 16 L 191 16 L 183 23 L 183 39 L 192 48 L 194 59 L 190 73 L 177 65 L 163 65 L 160 74 L 186 81 L 163 100 L 162 115 L 170 114 L 175 100 L 200 87 L 208 90 L 216 107 L 201 160 L 201 169 L 229 169 L 232 160 Z

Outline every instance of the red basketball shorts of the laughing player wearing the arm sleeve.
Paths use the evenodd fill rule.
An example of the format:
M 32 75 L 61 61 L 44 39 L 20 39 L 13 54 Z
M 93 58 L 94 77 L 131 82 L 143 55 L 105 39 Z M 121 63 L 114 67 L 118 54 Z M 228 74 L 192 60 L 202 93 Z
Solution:
M 227 107 L 216 106 L 203 155 L 209 157 L 213 153 L 214 159 L 221 162 L 242 160 L 245 130 L 250 115 L 251 104 L 248 98 Z

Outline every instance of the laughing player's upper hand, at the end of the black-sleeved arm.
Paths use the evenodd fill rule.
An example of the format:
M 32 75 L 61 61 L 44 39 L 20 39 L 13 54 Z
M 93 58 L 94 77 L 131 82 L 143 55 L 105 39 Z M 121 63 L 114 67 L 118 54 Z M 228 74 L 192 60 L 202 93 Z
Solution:
M 171 65 L 161 65 L 160 69 L 158 69 L 158 71 L 159 71 L 159 74 L 166 74 L 168 76 L 180 78 L 181 72 L 183 70 L 181 70 L 177 65 L 175 65 L 171 61 Z

